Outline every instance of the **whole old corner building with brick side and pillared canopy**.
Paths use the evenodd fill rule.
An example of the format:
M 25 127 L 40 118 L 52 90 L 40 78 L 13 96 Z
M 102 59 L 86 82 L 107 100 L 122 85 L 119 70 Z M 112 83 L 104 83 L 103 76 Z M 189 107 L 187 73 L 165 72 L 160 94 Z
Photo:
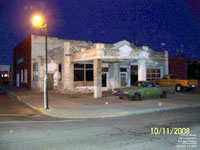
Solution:
M 14 49 L 14 82 L 43 91 L 45 37 L 30 35 Z M 114 44 L 48 37 L 48 88 L 63 93 L 129 87 L 168 74 L 168 52 L 123 40 Z

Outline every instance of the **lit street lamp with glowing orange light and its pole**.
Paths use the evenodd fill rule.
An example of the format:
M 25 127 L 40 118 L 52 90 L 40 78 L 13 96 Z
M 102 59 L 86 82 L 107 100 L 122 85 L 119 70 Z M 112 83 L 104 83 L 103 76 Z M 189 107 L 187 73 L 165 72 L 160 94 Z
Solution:
M 44 108 L 49 109 L 48 106 L 48 60 L 47 60 L 47 24 L 43 25 L 42 17 L 36 15 L 33 17 L 33 25 L 40 28 L 45 33 L 45 77 L 44 77 Z

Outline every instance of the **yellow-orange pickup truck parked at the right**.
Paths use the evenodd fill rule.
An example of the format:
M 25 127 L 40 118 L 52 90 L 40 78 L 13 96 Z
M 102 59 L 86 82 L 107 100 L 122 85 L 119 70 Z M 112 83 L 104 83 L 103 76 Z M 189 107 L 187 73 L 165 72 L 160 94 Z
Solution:
M 164 75 L 162 79 L 157 79 L 155 82 L 159 85 L 172 85 L 177 92 L 181 92 L 183 88 L 198 87 L 198 80 L 183 80 L 179 79 L 177 75 Z

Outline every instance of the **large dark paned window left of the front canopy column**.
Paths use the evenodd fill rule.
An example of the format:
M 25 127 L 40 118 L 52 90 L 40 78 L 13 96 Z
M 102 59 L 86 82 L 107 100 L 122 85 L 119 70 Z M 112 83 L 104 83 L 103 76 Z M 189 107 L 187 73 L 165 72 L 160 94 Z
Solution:
M 93 64 L 74 64 L 74 81 L 93 81 Z

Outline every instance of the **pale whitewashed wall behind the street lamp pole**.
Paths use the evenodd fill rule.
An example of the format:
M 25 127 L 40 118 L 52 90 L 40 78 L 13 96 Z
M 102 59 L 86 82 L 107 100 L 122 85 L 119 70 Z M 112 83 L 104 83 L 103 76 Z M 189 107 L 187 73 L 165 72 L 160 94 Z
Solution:
M 73 49 L 74 46 L 88 47 L 88 45 L 91 45 L 90 42 L 88 43 L 86 41 L 65 40 L 65 39 L 59 39 L 56 37 L 48 37 L 47 38 L 48 59 L 51 58 L 51 60 L 54 60 L 54 62 L 57 63 L 57 65 L 62 64 L 62 68 L 63 68 L 63 60 L 65 57 L 64 53 L 63 53 L 64 42 L 69 42 L 71 49 Z M 31 60 L 32 60 L 31 68 L 33 69 L 34 62 L 39 62 L 41 59 L 40 57 L 44 58 L 44 56 L 45 56 L 45 36 L 32 35 L 31 36 Z M 56 58 L 52 58 L 51 56 L 56 57 Z M 50 61 L 48 61 L 48 63 L 50 63 Z M 39 69 L 43 70 L 42 72 L 39 72 L 40 81 L 33 80 L 33 71 L 31 71 L 31 82 L 32 82 L 31 87 L 32 87 L 32 89 L 38 89 L 38 88 L 41 89 L 43 87 L 43 79 L 41 81 L 41 78 L 43 78 L 42 74 L 44 72 L 44 65 L 39 66 Z M 62 71 L 63 71 L 63 69 L 62 69 Z M 58 78 L 58 70 L 56 70 L 55 75 L 54 75 L 55 86 L 60 85 L 63 89 L 64 79 L 57 80 L 57 78 Z M 55 89 L 56 89 L 56 87 L 55 87 Z

